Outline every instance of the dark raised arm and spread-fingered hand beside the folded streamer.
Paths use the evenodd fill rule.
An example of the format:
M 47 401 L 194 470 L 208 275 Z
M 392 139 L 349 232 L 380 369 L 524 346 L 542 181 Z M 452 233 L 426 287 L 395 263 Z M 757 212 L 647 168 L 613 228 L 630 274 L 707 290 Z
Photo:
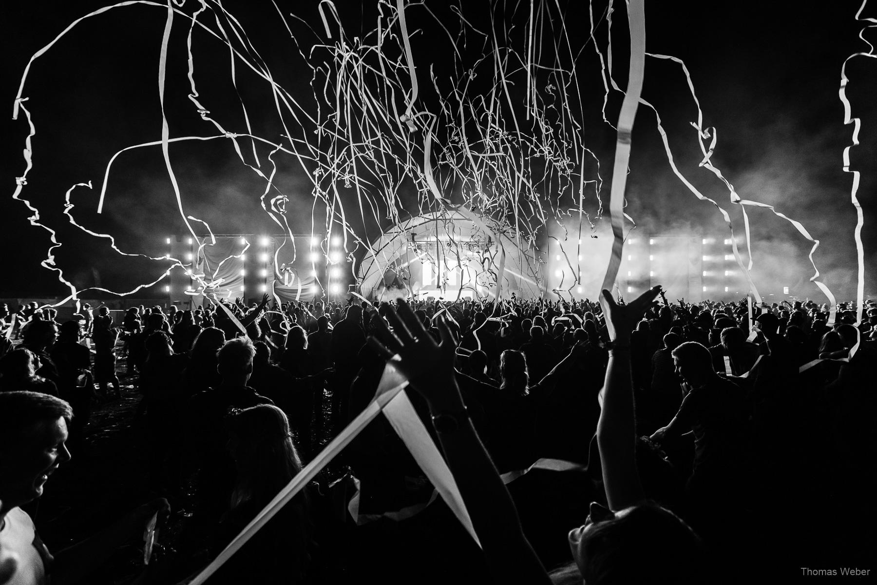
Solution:
M 424 330 L 407 303 L 400 302 L 398 315 L 390 311 L 388 319 L 393 332 L 379 318 L 376 330 L 383 343 L 374 338 L 368 342 L 384 357 L 396 353 L 396 367 L 429 404 L 432 424 L 491 574 L 497 582 L 551 583 L 524 537 L 515 504 L 467 415 L 454 378 L 457 343 L 445 316 L 439 317 L 440 344 Z

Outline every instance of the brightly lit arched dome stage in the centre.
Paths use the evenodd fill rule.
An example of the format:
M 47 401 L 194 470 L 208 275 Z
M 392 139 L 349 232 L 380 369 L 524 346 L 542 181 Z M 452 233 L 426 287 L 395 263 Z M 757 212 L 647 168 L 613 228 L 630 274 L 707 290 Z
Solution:
M 410 218 L 372 243 L 357 271 L 360 294 L 372 300 L 493 298 L 499 278 L 502 298 L 538 297 L 538 251 L 522 250 L 516 240 L 489 219 L 476 223 L 456 211 Z

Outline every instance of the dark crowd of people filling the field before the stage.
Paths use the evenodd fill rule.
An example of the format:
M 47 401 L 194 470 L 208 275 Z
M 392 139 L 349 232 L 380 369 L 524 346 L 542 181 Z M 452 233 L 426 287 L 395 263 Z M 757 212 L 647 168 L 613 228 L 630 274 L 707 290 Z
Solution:
M 207 582 L 731 583 L 871 570 L 877 303 L 858 324 L 857 309 L 841 304 L 831 321 L 810 301 L 670 303 L 659 287 L 627 303 L 603 291 L 600 302 L 84 304 L 62 323 L 37 303 L 4 306 L 0 584 L 95 582 L 122 543 L 149 559 L 144 535 L 179 508 L 173 553 L 137 582 L 188 581 L 367 406 L 389 359 L 479 544 L 440 498 L 399 513 L 429 501 L 431 485 L 379 418 L 340 453 L 340 478 L 317 476 Z M 93 410 L 121 398 L 120 375 L 139 396 L 155 497 L 50 553 L 28 510 L 57 467 L 87 452 Z M 504 483 L 540 459 L 572 470 Z

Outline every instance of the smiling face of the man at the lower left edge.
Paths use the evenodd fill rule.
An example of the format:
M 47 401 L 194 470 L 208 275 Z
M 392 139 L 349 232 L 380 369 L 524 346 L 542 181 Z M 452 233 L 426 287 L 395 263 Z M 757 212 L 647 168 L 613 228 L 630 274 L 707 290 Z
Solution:
M 17 446 L 0 453 L 0 499 L 20 506 L 43 495 L 43 486 L 61 463 L 70 460 L 67 421 L 63 417 L 32 427 Z

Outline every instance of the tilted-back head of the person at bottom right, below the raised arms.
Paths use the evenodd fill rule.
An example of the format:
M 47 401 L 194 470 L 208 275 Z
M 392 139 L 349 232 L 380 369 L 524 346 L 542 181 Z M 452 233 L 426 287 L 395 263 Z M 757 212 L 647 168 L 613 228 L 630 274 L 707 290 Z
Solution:
M 673 512 L 651 501 L 614 513 L 592 503 L 588 522 L 568 539 L 588 585 L 702 579 L 700 539 Z

